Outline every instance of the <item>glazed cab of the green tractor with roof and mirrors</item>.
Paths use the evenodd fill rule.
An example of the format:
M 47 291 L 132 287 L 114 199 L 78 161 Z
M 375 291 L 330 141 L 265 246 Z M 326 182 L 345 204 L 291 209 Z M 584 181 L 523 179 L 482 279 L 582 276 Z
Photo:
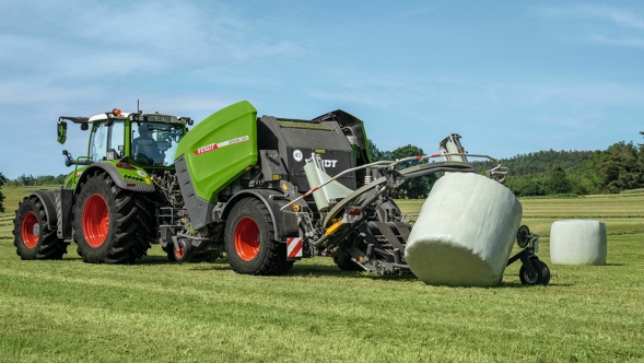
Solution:
M 86 117 L 61 116 L 58 120 L 58 142 L 67 139 L 66 120 L 90 130 L 87 154 L 74 160 L 63 151 L 66 165 L 90 165 L 101 161 L 119 161 L 145 169 L 174 167 L 179 140 L 187 132 L 186 125 L 192 125 L 187 117 L 171 115 L 110 113 Z

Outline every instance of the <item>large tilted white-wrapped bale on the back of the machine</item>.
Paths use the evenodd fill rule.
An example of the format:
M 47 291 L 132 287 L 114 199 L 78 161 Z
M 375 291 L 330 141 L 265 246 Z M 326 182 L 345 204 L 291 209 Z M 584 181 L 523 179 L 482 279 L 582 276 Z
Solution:
M 405 258 L 428 284 L 495 285 L 522 216 L 522 204 L 500 183 L 477 174 L 447 174 L 425 200 Z

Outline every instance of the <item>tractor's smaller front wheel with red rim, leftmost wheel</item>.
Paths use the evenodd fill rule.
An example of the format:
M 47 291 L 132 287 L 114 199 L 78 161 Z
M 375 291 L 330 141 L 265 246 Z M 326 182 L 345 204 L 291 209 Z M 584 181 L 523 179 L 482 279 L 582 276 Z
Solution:
M 21 259 L 62 259 L 67 243 L 47 227 L 45 207 L 36 196 L 25 197 L 15 211 L 13 244 Z

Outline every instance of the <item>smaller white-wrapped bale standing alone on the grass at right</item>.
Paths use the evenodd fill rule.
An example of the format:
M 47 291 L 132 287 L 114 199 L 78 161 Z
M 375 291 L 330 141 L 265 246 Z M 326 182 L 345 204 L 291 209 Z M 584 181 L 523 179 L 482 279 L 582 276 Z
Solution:
M 557 221 L 550 227 L 550 260 L 554 265 L 606 265 L 606 243 L 601 221 Z

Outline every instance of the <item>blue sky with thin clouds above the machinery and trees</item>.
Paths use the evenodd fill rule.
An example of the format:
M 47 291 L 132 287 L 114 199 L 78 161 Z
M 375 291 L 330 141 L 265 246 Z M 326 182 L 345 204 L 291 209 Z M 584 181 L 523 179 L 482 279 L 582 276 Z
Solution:
M 0 173 L 67 174 L 59 116 L 344 109 L 382 150 L 604 150 L 644 130 L 641 1 L 0 0 Z

